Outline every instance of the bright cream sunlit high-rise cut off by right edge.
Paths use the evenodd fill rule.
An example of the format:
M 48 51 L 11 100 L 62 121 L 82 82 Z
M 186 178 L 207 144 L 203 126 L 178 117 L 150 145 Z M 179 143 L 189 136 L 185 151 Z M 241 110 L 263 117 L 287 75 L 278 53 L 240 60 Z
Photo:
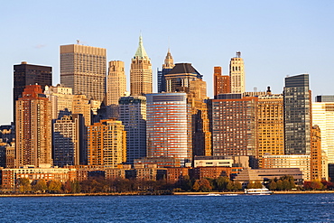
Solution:
M 328 163 L 334 163 L 334 99 L 317 96 L 312 104 L 312 123 L 321 130 L 321 150 L 326 153 Z

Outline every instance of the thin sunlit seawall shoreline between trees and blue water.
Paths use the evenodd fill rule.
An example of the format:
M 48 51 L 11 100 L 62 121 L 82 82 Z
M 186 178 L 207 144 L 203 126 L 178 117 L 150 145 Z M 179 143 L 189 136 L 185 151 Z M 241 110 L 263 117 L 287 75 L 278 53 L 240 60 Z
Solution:
M 274 194 L 316 194 L 316 193 L 334 193 L 334 190 L 305 190 L 305 191 L 274 191 Z M 173 192 L 172 194 L 148 194 L 141 192 L 128 192 L 128 193 L 57 193 L 57 194 L 49 194 L 49 193 L 40 193 L 40 194 L 0 194 L 0 198 L 5 197 L 84 197 L 84 196 L 170 196 L 170 195 L 245 195 L 244 191 L 238 192 Z

